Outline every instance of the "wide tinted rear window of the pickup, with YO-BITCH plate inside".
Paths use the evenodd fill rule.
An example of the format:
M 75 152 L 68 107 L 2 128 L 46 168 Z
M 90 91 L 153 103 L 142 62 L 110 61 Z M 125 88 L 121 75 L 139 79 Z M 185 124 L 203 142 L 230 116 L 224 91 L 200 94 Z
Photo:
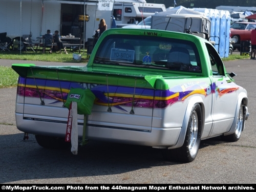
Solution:
M 201 72 L 199 54 L 193 42 L 144 35 L 106 36 L 94 63 Z

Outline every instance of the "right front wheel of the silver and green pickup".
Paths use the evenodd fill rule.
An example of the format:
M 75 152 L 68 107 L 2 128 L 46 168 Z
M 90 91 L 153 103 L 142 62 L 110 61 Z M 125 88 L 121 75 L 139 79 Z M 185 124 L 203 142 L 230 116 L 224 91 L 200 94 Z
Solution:
M 241 133 L 243 131 L 244 118 L 243 118 L 243 104 L 240 104 L 240 108 L 236 117 L 236 129 L 231 135 L 221 136 L 222 140 L 228 142 L 236 142 L 240 139 Z

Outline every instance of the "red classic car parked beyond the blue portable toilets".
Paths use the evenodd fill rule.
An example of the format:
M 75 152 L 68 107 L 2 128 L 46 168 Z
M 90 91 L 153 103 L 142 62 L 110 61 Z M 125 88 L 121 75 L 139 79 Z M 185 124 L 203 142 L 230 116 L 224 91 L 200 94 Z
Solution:
M 251 40 L 251 30 L 256 28 L 254 22 L 237 22 L 230 26 L 231 38 L 234 44 L 241 44 L 241 41 Z

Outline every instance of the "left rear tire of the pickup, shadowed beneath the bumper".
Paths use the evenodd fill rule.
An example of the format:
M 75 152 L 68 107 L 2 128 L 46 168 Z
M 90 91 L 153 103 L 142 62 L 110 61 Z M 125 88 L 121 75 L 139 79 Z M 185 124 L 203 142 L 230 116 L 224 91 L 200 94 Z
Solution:
M 44 148 L 66 149 L 71 146 L 70 142 L 65 142 L 65 138 L 50 137 L 44 135 L 35 135 L 35 138 L 37 143 Z

